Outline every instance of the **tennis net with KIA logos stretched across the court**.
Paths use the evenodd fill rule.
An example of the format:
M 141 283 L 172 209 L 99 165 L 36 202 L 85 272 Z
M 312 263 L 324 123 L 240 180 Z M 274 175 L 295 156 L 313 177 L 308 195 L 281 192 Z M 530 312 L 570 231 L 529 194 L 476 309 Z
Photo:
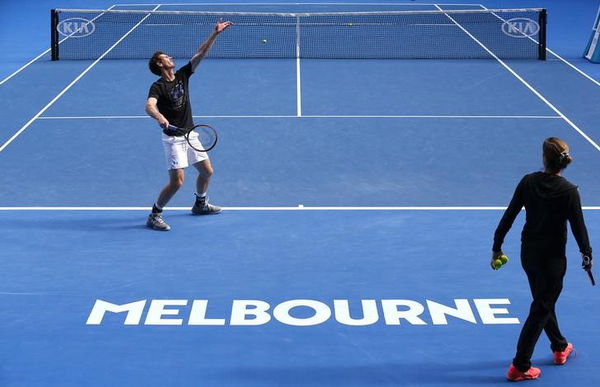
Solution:
M 219 19 L 212 58 L 545 59 L 544 9 L 335 13 L 54 9 L 52 59 L 191 57 Z

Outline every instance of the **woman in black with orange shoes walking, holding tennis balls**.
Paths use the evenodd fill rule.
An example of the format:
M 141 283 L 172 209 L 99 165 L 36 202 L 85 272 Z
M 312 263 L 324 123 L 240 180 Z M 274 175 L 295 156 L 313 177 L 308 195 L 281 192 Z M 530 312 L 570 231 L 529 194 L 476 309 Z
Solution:
M 536 379 L 541 371 L 531 366 L 535 344 L 542 333 L 550 339 L 555 364 L 565 364 L 573 351 L 558 327 L 554 310 L 567 268 L 567 221 L 582 257 L 589 257 L 584 269 L 591 269 L 592 248 L 583 220 L 577 186 L 561 176 L 573 161 L 568 145 L 556 138 L 543 143 L 544 171 L 525 175 L 498 224 L 492 248 L 493 262 L 502 254 L 502 243 L 515 218 L 525 206 L 526 220 L 521 233 L 521 265 L 527 274 L 533 302 L 521 329 L 517 353 L 506 377 L 511 381 Z

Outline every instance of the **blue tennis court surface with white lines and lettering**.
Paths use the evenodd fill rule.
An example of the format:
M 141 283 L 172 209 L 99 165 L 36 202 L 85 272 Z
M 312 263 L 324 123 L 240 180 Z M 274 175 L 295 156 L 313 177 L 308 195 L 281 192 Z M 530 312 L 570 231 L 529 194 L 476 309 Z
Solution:
M 0 5 L 0 386 L 508 383 L 531 302 L 524 214 L 499 271 L 492 236 L 546 137 L 571 147 L 600 248 L 600 65 L 581 57 L 598 2 L 161 4 L 548 9 L 545 61 L 205 59 L 190 94 L 220 134 L 209 194 L 224 211 L 190 215 L 188 168 L 166 233 L 145 226 L 167 182 L 147 59 L 48 51 L 50 8 L 159 5 L 136 3 Z M 600 385 L 600 295 L 571 236 L 567 253 L 557 314 L 577 356 L 553 365 L 542 335 L 536 386 Z

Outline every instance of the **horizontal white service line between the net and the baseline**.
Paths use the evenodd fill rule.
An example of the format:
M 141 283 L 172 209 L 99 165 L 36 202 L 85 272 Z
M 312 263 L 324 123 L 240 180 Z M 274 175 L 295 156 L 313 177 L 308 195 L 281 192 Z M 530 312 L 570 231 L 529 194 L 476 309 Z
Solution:
M 452 116 L 452 115 L 311 115 L 300 116 L 193 116 L 194 118 L 469 118 L 469 119 L 562 119 L 561 116 Z M 149 116 L 42 116 L 39 120 L 112 120 L 112 119 L 151 119 Z

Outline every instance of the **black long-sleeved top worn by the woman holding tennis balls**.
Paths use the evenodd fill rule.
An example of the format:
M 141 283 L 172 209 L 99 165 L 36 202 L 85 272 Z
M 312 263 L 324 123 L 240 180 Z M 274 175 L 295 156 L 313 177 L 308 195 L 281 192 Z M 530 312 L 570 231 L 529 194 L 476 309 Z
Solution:
M 579 251 L 591 256 L 592 248 L 583 220 L 577 186 L 562 176 L 545 172 L 525 175 L 519 182 L 494 234 L 493 251 L 500 251 L 504 237 L 525 206 L 526 219 L 521 241 L 567 243 L 567 220 Z

